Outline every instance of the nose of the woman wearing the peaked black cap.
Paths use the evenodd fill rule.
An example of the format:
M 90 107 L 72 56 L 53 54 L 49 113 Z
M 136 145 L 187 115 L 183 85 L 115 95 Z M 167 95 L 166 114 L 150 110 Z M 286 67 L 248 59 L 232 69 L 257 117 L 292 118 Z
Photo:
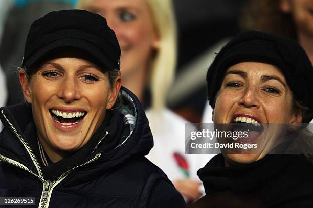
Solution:
M 65 77 L 59 86 L 58 97 L 63 99 L 65 103 L 71 103 L 79 100 L 81 97 L 78 80 L 74 77 Z

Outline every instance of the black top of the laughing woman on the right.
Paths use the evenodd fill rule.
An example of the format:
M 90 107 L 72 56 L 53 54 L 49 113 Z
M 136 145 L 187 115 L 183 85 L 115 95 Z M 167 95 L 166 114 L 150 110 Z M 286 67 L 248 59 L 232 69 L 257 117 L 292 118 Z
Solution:
M 313 207 L 313 166 L 297 154 L 268 154 L 241 167 L 225 167 L 223 155 L 212 158 L 198 176 L 206 196 L 192 208 Z

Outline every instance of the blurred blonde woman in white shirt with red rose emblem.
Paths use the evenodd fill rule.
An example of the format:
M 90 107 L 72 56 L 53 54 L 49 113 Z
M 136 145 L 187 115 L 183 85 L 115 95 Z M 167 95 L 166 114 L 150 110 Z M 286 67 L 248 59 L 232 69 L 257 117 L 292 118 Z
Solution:
M 197 199 L 200 184 L 191 180 L 196 178 L 197 167 L 184 155 L 187 121 L 165 106 L 176 64 L 176 24 L 171 2 L 81 0 L 78 8 L 104 16 L 117 34 L 123 86 L 148 107 L 146 114 L 154 137 L 148 158 L 165 171 L 187 200 Z M 146 89 L 151 89 L 150 106 Z

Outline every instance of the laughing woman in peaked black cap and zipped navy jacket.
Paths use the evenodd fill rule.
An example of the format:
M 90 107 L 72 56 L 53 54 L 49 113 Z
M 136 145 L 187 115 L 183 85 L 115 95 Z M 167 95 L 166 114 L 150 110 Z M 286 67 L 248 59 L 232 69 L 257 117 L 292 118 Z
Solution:
M 153 139 L 138 99 L 121 88 L 119 58 L 98 14 L 63 10 L 32 24 L 19 72 L 27 103 L 0 109 L 0 197 L 34 197 L 39 207 L 185 206 L 144 157 Z

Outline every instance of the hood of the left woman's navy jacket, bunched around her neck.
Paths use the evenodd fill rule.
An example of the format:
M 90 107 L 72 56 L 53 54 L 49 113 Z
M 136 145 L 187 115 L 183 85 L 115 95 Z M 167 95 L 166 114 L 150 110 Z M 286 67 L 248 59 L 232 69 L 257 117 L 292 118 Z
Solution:
M 97 142 L 94 151 L 83 160 L 86 162 L 101 153 L 97 161 L 88 164 L 93 171 L 87 171 L 87 175 L 119 165 L 131 157 L 146 155 L 153 147 L 148 120 L 138 98 L 122 87 L 120 100 L 120 103 L 117 103 L 118 107 L 112 110 L 113 116 L 109 125 L 103 131 L 108 132 L 107 137 L 104 141 Z M 0 154 L 25 165 L 36 173 L 36 166 L 27 150 L 30 138 L 23 134 L 26 126 L 33 122 L 31 106 L 22 102 L 0 108 L 0 119 L 5 126 L 0 133 Z M 20 138 L 25 142 L 21 142 Z M 114 142 L 114 146 L 109 142 Z M 112 148 L 108 149 L 107 146 L 110 145 Z

